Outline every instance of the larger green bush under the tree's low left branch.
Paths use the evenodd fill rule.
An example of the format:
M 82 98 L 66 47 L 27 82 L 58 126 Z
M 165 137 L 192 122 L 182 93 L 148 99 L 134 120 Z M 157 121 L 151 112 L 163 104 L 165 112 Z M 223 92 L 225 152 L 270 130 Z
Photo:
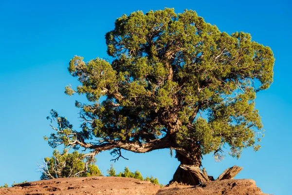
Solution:
M 63 153 L 55 150 L 52 157 L 46 157 L 44 164 L 39 165 L 41 168 L 40 179 L 52 179 L 61 177 L 78 177 L 78 176 L 102 176 L 98 167 L 91 163 L 85 164 L 85 156 L 77 151 Z

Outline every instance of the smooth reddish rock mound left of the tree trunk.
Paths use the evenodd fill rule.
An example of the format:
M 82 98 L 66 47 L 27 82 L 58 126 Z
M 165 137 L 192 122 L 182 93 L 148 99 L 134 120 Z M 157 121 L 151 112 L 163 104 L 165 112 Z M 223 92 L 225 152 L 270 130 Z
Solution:
M 126 177 L 73 177 L 0 189 L 0 195 L 155 195 L 160 186 Z

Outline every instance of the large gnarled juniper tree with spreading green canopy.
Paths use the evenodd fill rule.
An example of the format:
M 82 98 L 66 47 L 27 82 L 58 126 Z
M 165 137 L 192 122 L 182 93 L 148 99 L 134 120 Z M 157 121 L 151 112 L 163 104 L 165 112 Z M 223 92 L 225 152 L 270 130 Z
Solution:
M 65 93 L 76 101 L 80 130 L 51 112 L 57 126 L 53 147 L 88 149 L 88 160 L 106 150 L 146 153 L 170 148 L 181 165 L 201 167 L 201 158 L 222 151 L 240 156 L 259 149 L 263 125 L 256 93 L 273 81 L 272 50 L 250 34 L 220 32 L 195 11 L 174 9 L 123 15 L 106 34 L 110 61 L 85 62 L 75 56 L 69 72 L 80 81 Z M 173 181 L 198 184 L 194 173 L 178 167 Z

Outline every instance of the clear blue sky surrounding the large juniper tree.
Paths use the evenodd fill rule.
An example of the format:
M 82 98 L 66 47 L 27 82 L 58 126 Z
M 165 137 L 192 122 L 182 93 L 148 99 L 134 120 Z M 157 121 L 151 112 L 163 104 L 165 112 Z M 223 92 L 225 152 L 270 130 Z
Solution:
M 74 55 L 86 61 L 107 58 L 105 34 L 118 17 L 164 7 L 177 13 L 195 10 L 220 31 L 248 32 L 253 40 L 272 48 L 274 83 L 256 98 L 266 130 L 262 148 L 256 153 L 244 150 L 238 160 L 227 156 L 215 162 L 205 156 L 203 167 L 217 177 L 228 167 L 242 166 L 236 178 L 256 180 L 264 193 L 290 194 L 292 5 L 288 0 L 0 0 L 0 185 L 39 179 L 37 162 L 53 152 L 42 138 L 52 132 L 46 120 L 52 108 L 79 126 L 74 101 L 82 98 L 64 94 L 66 85 L 78 84 L 67 71 L 69 60 Z M 128 166 L 164 184 L 179 165 L 169 150 L 125 156 L 129 160 L 114 164 L 117 171 Z M 111 156 L 104 152 L 96 157 L 106 174 Z

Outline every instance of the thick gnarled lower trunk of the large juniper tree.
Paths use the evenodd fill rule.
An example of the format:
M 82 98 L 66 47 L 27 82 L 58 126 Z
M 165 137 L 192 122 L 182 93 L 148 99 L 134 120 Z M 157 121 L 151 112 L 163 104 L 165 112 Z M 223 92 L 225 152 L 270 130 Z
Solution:
M 198 167 L 200 170 L 201 167 L 201 153 L 195 153 L 192 158 L 187 158 L 183 154 L 181 154 L 179 151 L 176 150 L 176 156 L 175 156 L 180 162 L 180 166 L 177 168 L 176 172 L 173 175 L 172 180 L 169 183 L 178 182 L 183 183 L 187 185 L 198 185 L 200 184 L 200 177 L 198 177 L 198 174 L 185 169 L 184 165 L 189 165 L 191 167 Z M 183 168 L 182 168 L 183 167 Z

